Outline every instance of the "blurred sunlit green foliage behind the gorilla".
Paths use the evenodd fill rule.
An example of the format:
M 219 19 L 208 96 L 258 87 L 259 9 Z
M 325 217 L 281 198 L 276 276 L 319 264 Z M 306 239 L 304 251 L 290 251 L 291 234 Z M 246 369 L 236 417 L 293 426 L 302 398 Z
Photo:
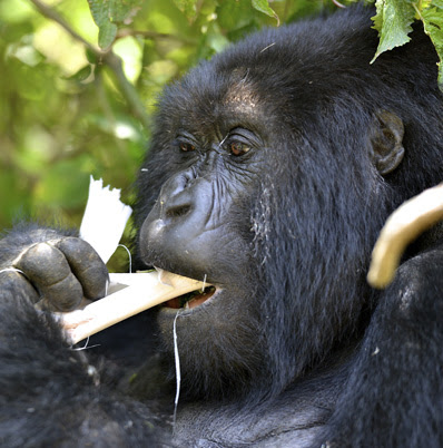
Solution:
M 331 0 L 1 0 L 0 228 L 29 217 L 78 227 L 90 175 L 130 202 L 165 82 L 245 33 L 334 8 Z M 125 79 L 109 55 L 122 59 Z

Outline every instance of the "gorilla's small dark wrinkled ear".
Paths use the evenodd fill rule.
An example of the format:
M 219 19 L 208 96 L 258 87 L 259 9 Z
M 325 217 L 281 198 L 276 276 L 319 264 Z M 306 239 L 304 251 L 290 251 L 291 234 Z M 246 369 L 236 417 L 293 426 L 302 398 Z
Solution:
M 403 121 L 393 113 L 378 110 L 371 129 L 371 157 L 378 173 L 393 172 L 403 160 Z

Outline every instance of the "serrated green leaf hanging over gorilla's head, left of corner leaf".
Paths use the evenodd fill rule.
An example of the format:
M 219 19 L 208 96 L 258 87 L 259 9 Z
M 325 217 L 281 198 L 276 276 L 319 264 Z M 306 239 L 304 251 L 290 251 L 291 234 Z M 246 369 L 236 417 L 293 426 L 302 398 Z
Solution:
M 408 0 L 377 0 L 375 3 L 376 16 L 373 17 L 374 28 L 378 31 L 380 43 L 375 52 L 375 59 L 384 51 L 408 42 L 407 36 L 412 31 L 415 9 Z

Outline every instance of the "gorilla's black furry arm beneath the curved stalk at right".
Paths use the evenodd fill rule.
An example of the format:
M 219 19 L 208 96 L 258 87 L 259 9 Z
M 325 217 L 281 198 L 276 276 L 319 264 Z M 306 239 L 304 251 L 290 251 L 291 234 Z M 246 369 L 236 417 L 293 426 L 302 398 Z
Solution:
M 443 445 L 443 246 L 404 263 L 382 294 L 323 441 Z

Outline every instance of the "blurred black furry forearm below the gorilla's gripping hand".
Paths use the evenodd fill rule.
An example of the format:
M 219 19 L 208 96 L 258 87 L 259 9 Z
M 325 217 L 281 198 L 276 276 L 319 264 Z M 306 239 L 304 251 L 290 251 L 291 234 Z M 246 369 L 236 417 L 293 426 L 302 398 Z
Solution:
M 116 398 L 58 324 L 21 292 L 0 293 L 0 445 L 141 446 L 152 441 L 146 407 Z

